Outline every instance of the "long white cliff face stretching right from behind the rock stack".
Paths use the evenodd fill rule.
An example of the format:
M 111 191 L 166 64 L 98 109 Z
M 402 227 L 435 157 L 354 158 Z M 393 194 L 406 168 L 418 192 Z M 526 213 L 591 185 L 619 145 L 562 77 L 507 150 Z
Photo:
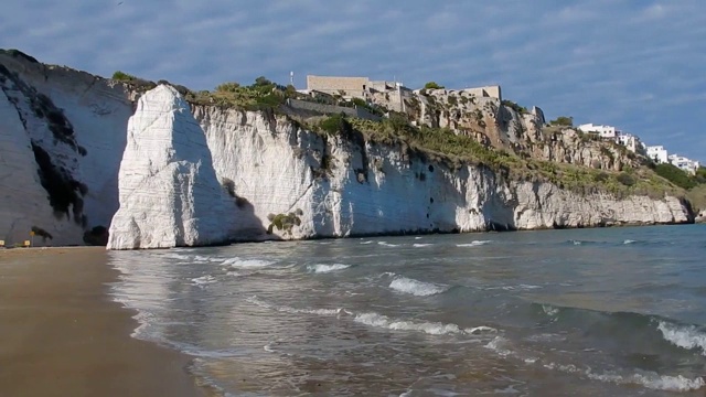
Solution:
M 398 146 L 322 137 L 261 112 L 194 109 L 221 179 L 281 238 L 403 232 L 534 229 L 687 222 L 675 197 L 578 195 L 505 181 L 485 168 L 451 171 Z M 360 138 L 360 137 L 359 137 Z M 269 216 L 269 218 L 268 218 Z

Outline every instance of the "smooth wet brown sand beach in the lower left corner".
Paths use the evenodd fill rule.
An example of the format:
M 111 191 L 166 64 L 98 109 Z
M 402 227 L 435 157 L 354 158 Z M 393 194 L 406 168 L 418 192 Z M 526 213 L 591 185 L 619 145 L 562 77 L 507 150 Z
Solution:
M 190 357 L 130 336 L 105 248 L 0 250 L 1 396 L 207 396 Z

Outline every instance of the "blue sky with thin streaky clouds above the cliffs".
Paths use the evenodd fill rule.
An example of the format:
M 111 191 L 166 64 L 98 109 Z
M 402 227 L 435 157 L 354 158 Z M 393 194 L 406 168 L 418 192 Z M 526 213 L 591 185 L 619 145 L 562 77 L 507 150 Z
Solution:
M 706 4 L 697 0 L 4 0 L 0 47 L 192 89 L 360 75 L 500 84 L 547 118 L 608 124 L 706 161 Z

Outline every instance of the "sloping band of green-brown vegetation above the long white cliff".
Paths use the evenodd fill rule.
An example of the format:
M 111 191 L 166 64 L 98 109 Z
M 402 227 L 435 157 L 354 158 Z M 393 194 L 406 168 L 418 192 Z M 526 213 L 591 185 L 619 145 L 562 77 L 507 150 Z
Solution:
M 506 179 L 546 181 L 581 194 L 607 192 L 618 197 L 637 194 L 653 198 L 661 198 L 665 194 L 684 194 L 680 187 L 648 168 L 612 172 L 521 158 L 507 151 L 486 148 L 475 139 L 457 135 L 450 129 L 411 126 L 404 116 L 397 114 L 382 121 L 347 119 L 334 115 L 310 128 L 328 135 L 339 135 L 345 133 L 349 126 L 362 132 L 367 141 L 399 144 L 406 148 L 409 157 L 443 163 L 451 171 L 464 164 L 486 167 Z

